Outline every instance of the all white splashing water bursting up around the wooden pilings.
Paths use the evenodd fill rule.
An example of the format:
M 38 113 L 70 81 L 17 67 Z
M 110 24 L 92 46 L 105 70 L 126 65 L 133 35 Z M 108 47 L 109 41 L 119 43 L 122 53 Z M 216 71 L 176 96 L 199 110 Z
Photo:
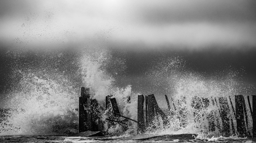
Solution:
M 59 54 L 58 57 L 62 55 Z M 90 88 L 91 97 L 97 99 L 101 106 L 104 105 L 107 95 L 113 95 L 112 98 L 116 98 L 120 113 L 137 120 L 137 95 L 144 91 L 132 91 L 132 85 L 114 86 L 113 73 L 106 70 L 112 62 L 119 71 L 124 70 L 124 60 L 113 60 L 113 57 L 105 51 L 94 54 L 82 53 L 73 62 L 78 63 L 75 64 L 78 70 L 72 73 L 77 74 L 73 76 L 75 77 L 73 80 L 64 76 L 64 72 L 55 74 L 52 74 L 51 70 L 42 72 L 46 65 L 40 70 L 29 68 L 13 70 L 22 78 L 18 86 L 8 93 L 9 97 L 5 105 L 9 108 L 15 107 L 16 110 L 9 110 L 6 119 L 0 123 L 0 135 L 63 135 L 78 132 L 78 111 L 75 109 L 78 108 L 81 86 Z M 239 75 L 238 72 L 221 72 L 211 78 L 205 78 L 186 69 L 185 62 L 177 56 L 162 59 L 162 62 L 154 66 L 151 68 L 155 70 L 147 73 L 147 78 L 152 81 L 149 85 L 154 85 L 152 86 L 154 91 L 162 90 L 172 97 L 177 110 L 165 111 L 169 119 L 167 127 L 163 128 L 161 118 L 156 117 L 154 126 L 157 128 L 154 131 L 148 129 L 146 133 L 195 133 L 204 138 L 220 136 L 221 132 L 218 129 L 214 132 L 209 132 L 208 129 L 207 115 L 211 111 L 217 112 L 216 106 L 212 105 L 211 97 L 226 98 L 249 92 L 247 88 L 243 88 L 244 86 L 241 87 L 241 81 L 236 76 Z M 129 96 L 131 101 L 127 102 Z M 161 96 L 156 95 L 156 98 L 159 107 L 164 110 L 167 105 L 163 100 L 164 96 Z M 208 98 L 209 107 L 195 109 L 192 106 L 195 96 L 200 99 Z M 232 99 L 234 100 L 233 97 Z M 197 116 L 194 116 L 195 114 Z M 105 120 L 107 115 L 105 112 L 102 119 Z M 218 113 L 216 116 L 220 118 Z M 136 133 L 137 124 L 134 122 L 129 121 L 127 129 L 115 123 L 110 127 L 106 124 L 105 130 L 108 134 L 129 136 Z

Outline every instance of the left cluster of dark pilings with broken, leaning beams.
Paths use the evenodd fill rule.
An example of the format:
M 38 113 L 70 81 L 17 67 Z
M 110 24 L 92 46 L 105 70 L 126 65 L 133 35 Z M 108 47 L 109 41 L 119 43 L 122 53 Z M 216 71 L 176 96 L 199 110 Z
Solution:
M 130 102 L 130 97 L 128 97 L 127 102 Z M 112 107 L 112 108 L 110 108 Z M 109 110 L 111 109 L 111 110 Z M 110 122 L 108 125 L 114 125 L 115 123 L 120 124 L 125 129 L 126 122 L 131 120 L 137 122 L 128 117 L 120 115 L 117 102 L 115 98 L 111 95 L 106 96 L 106 110 L 108 111 L 109 117 L 106 118 Z M 124 118 L 124 119 L 121 119 Z M 85 131 L 100 131 L 104 132 L 102 117 L 99 111 L 99 105 L 96 99 L 90 98 L 90 89 L 82 87 L 81 97 L 79 97 L 79 132 Z

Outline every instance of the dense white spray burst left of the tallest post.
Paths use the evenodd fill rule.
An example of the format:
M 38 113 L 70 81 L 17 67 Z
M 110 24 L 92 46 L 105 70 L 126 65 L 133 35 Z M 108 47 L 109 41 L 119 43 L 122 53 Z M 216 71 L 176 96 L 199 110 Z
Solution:
M 5 103 L 18 111 L 10 111 L 2 122 L 1 135 L 61 135 L 77 132 L 78 102 L 72 87 L 62 87 L 49 79 L 23 74 L 20 90 L 10 93 Z M 9 125 L 7 125 L 9 124 Z

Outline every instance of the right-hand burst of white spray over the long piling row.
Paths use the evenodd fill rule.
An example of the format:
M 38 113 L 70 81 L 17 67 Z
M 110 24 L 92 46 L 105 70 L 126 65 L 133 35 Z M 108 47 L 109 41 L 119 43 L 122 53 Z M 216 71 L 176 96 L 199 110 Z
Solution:
M 205 77 L 203 74 L 187 69 L 185 62 L 180 57 L 176 57 L 176 59 L 166 58 L 163 61 L 156 66 L 157 68 L 151 68 L 153 70 L 147 73 L 149 75 L 148 78 L 152 79 L 151 81 L 156 85 L 155 87 L 160 87 L 160 89 L 167 92 L 168 96 L 173 97 L 177 110 L 166 112 L 170 121 L 166 128 L 161 126 L 161 118 L 156 117 L 154 125 L 150 125 L 146 133 L 195 133 L 203 134 L 206 137 L 223 135 L 222 131 L 217 127 L 215 127 L 216 131 L 209 132 L 207 116 L 211 112 L 216 112 L 215 119 L 219 120 L 220 125 L 218 126 L 222 128 L 218 112 L 218 98 L 228 98 L 228 96 L 235 94 L 248 94 L 251 92 L 250 85 L 246 85 L 241 80 L 241 72 L 243 71 L 227 70 L 215 72 L 211 77 Z M 158 89 L 155 90 L 157 91 Z M 198 102 L 201 102 L 199 109 L 193 107 L 194 103 L 192 101 L 195 97 Z M 209 100 L 207 108 L 204 108 L 206 105 L 204 105 L 202 98 Z M 217 99 L 218 107 L 216 103 L 213 106 L 211 98 Z M 166 104 L 164 100 L 158 100 L 158 105 L 162 106 L 162 109 L 167 107 L 163 106 L 163 104 Z M 228 104 L 230 103 L 228 102 Z M 228 118 L 231 117 L 232 114 L 229 114 Z M 216 124 L 216 121 L 214 124 Z M 154 130 L 151 129 L 152 127 L 154 127 Z M 230 132 L 230 134 L 232 133 Z

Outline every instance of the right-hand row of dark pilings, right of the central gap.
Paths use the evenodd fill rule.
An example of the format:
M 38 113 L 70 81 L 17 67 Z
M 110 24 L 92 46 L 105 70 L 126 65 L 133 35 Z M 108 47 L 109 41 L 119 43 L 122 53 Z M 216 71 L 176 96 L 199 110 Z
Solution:
M 168 97 L 166 97 L 166 102 L 168 109 L 170 110 L 170 103 Z M 256 137 L 256 95 L 252 95 L 252 107 L 250 103 L 250 98 L 248 98 L 249 108 L 252 115 L 252 137 Z M 235 120 L 236 120 L 236 131 L 234 126 L 233 117 L 230 117 L 230 108 L 228 105 L 228 100 L 225 97 L 220 97 L 218 99 L 219 105 L 216 98 L 211 98 L 212 104 L 214 107 L 218 108 L 218 112 L 220 114 L 220 119 L 222 122 L 222 129 L 219 125 L 219 119 L 217 117 L 217 113 L 215 111 L 211 111 L 207 114 L 207 119 L 209 122 L 209 132 L 215 131 L 215 127 L 217 127 L 220 132 L 224 135 L 230 135 L 230 124 L 232 129 L 232 134 L 238 134 L 239 136 L 251 136 L 251 133 L 248 131 L 248 115 L 245 106 L 245 100 L 243 95 L 235 95 L 235 109 L 231 98 L 229 96 L 231 109 L 233 111 Z M 145 115 L 144 117 L 144 104 L 145 101 Z M 192 107 L 196 110 L 207 109 L 209 107 L 209 99 L 199 97 L 194 97 L 192 100 Z M 175 105 L 173 102 L 174 109 Z M 156 113 L 156 114 L 155 114 Z M 138 133 L 145 132 L 145 129 L 149 127 L 149 125 L 153 125 L 153 120 L 155 116 L 160 116 L 163 119 L 164 127 L 168 124 L 168 120 L 164 112 L 158 107 L 154 94 L 146 95 L 145 99 L 143 95 L 138 95 Z M 145 122 L 146 121 L 146 122 Z M 216 124 L 215 124 L 216 122 Z

